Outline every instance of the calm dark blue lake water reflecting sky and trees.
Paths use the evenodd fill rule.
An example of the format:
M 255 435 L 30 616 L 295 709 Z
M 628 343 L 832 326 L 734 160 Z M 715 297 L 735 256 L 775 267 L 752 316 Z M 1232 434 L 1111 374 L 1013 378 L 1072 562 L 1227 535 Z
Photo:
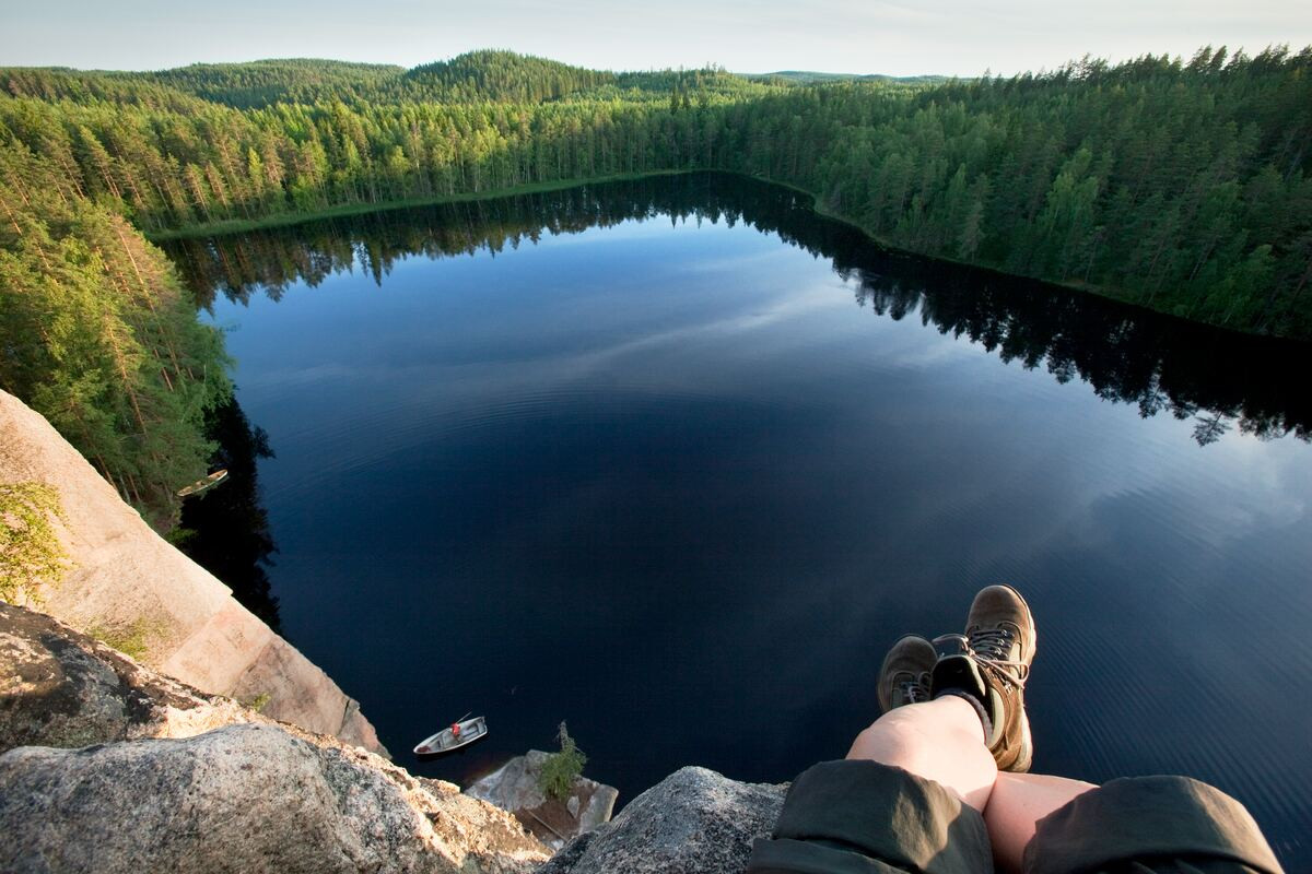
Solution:
M 282 626 L 413 770 L 565 719 L 623 799 L 684 764 L 789 780 L 876 715 L 897 636 L 1009 582 L 1035 770 L 1207 780 L 1312 865 L 1307 347 L 890 256 L 715 177 L 173 253 L 227 292 L 277 452 Z M 412 760 L 468 710 L 487 742 Z

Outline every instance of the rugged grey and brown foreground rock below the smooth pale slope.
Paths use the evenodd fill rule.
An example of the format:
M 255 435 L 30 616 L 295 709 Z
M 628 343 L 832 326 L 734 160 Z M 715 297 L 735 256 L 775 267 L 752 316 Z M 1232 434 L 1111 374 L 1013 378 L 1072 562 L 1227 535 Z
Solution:
M 3 871 L 527 874 L 550 857 L 451 784 L 7 604 L 0 751 Z

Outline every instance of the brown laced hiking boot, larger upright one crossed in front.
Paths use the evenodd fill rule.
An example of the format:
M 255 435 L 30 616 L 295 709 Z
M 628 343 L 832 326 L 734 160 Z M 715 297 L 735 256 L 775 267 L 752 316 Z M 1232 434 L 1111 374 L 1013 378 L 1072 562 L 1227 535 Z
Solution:
M 966 634 L 934 639 L 938 662 L 933 697 L 967 694 L 983 708 L 985 744 L 998 770 L 1026 772 L 1034 759 L 1025 715 L 1025 681 L 1038 646 L 1030 607 L 1010 586 L 980 590 L 966 618 Z

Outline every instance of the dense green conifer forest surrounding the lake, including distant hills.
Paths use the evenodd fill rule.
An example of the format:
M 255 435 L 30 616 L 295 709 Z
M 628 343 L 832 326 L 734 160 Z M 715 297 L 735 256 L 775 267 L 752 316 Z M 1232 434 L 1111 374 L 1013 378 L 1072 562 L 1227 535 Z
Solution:
M 148 240 L 655 172 L 791 186 L 880 242 L 1312 338 L 1312 47 L 899 81 L 478 51 L 0 69 L 0 387 L 167 528 L 222 338 Z

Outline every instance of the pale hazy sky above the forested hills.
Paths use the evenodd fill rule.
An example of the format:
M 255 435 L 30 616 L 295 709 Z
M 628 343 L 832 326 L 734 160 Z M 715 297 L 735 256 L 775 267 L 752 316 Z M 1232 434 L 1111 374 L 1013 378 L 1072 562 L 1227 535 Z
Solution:
M 0 66 L 159 69 L 512 48 L 585 67 L 977 76 L 1312 45 L 1309 0 L 0 0 Z

